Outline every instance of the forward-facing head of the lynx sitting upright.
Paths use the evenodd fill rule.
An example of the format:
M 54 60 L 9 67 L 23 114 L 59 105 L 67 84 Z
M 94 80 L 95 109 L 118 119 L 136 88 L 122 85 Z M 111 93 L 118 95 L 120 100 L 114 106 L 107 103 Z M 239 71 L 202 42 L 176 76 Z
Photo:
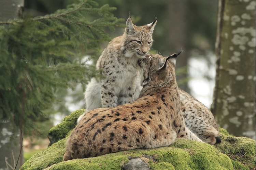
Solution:
M 150 24 L 137 27 L 132 23 L 130 17 L 127 19 L 124 42 L 122 44 L 122 50 L 126 57 L 145 57 L 153 43 L 152 33 L 156 22 L 157 19 Z

